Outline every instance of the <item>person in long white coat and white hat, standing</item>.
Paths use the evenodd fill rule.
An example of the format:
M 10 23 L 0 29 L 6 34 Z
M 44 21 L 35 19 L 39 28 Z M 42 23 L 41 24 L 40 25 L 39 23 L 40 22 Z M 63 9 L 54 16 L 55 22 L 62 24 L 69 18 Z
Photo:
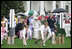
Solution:
M 37 44 L 38 39 L 40 39 L 39 36 L 39 28 L 41 26 L 41 22 L 38 20 L 38 17 L 35 16 L 35 20 L 33 21 L 33 38 L 35 38 L 35 44 Z

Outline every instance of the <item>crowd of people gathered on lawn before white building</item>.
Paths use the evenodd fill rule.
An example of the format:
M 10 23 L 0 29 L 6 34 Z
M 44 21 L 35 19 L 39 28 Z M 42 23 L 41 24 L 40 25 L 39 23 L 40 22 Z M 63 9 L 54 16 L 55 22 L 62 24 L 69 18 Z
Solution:
M 56 24 L 60 24 L 60 17 L 50 13 L 46 16 L 44 15 L 31 15 L 25 19 L 22 17 L 16 17 L 15 15 L 15 38 L 23 39 L 23 45 L 27 45 L 28 39 L 35 38 L 35 44 L 38 43 L 38 40 L 42 40 L 42 44 L 45 46 L 45 42 L 52 38 L 52 44 L 56 44 L 55 34 L 57 32 Z M 66 37 L 70 35 L 71 27 L 71 16 L 68 16 L 67 13 L 64 13 L 64 29 L 66 32 Z M 9 23 L 10 19 L 5 17 L 1 21 L 1 44 L 3 44 L 3 39 L 8 38 L 9 33 Z

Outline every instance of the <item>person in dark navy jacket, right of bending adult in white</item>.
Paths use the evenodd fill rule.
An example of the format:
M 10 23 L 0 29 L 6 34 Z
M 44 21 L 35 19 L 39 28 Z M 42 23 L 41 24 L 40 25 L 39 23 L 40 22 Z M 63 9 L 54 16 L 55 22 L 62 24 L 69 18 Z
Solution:
M 49 17 L 47 18 L 47 22 L 48 22 L 48 25 L 51 29 L 51 33 L 52 33 L 52 44 L 56 44 L 56 41 L 55 41 L 55 32 L 54 32 L 54 29 L 55 29 L 55 26 L 56 26 L 56 21 L 53 17 L 53 14 L 50 13 Z

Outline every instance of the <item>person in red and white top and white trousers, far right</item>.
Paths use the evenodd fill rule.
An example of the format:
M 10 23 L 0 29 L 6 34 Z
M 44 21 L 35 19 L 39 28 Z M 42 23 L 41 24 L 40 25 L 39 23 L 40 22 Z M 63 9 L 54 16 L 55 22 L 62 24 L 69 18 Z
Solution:
M 70 34 L 71 19 L 69 18 L 67 13 L 65 13 L 64 23 L 65 23 L 66 37 L 71 36 Z

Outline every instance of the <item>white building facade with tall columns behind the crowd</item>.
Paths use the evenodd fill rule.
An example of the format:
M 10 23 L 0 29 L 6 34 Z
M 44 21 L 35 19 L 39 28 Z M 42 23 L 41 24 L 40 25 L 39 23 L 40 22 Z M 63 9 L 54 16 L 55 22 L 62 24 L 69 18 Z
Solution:
M 64 8 L 71 14 L 71 1 L 23 1 L 24 9 L 35 10 L 44 15 L 45 11 L 53 11 L 56 8 Z

